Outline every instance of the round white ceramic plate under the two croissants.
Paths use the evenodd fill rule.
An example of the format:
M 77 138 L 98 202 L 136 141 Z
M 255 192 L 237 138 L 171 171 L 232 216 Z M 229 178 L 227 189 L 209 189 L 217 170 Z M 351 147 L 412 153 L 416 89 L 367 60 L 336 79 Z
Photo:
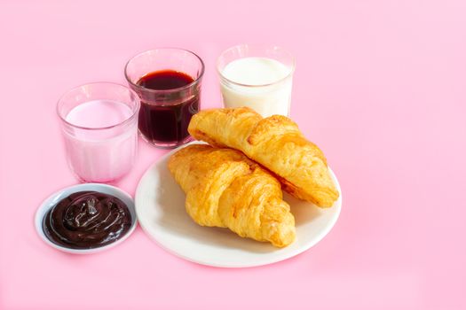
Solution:
M 158 159 L 139 181 L 136 213 L 148 236 L 185 260 L 214 267 L 254 267 L 286 260 L 317 244 L 332 229 L 340 214 L 341 195 L 331 208 L 321 209 L 285 194 L 284 199 L 295 215 L 296 240 L 282 249 L 241 238 L 228 229 L 201 227 L 186 213 L 186 195 L 167 167 L 175 151 Z M 331 170 L 330 173 L 341 193 L 335 174 Z

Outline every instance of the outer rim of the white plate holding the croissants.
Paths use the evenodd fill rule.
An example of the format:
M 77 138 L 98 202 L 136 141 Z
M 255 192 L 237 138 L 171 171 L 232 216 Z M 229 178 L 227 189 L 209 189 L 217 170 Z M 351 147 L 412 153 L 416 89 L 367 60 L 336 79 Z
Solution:
M 179 151 L 181 150 L 182 148 L 185 148 L 186 146 L 189 146 L 189 145 L 193 145 L 193 144 L 208 144 L 208 143 L 205 143 L 203 141 L 197 141 L 197 140 L 194 140 L 194 141 L 191 141 L 189 143 L 186 143 L 186 144 L 183 144 L 183 145 L 180 145 L 178 146 L 177 148 L 175 149 L 172 149 L 168 152 L 166 152 L 165 154 L 163 154 L 161 157 L 157 158 L 157 159 L 154 159 L 154 162 L 152 162 L 147 168 L 146 168 L 146 171 L 144 174 L 142 174 L 141 178 L 139 179 L 138 181 L 138 185 L 136 187 L 136 191 L 135 191 L 135 195 L 134 195 L 134 207 L 135 207 L 135 210 L 136 210 L 136 214 L 137 214 L 137 217 L 138 219 L 141 219 L 141 217 L 139 216 L 139 213 L 138 212 L 138 197 L 139 195 L 142 195 L 140 194 L 139 192 L 141 191 L 141 183 L 144 181 L 144 179 L 146 178 L 146 175 L 149 174 L 155 166 L 157 166 L 161 161 L 163 160 L 166 160 L 168 159 L 173 153 L 175 153 L 176 151 Z M 254 263 L 248 263 L 248 264 L 222 264 L 222 263 L 211 263 L 211 262 L 205 262 L 205 261 L 202 261 L 202 260 L 195 260 L 189 256 L 186 256 L 182 253 L 179 253 L 179 252 L 176 252 L 172 249 L 170 249 L 168 246 L 166 246 L 165 244 L 162 244 L 159 240 L 157 240 L 155 238 L 155 236 L 153 236 L 152 233 L 150 233 L 148 231 L 148 229 L 146 229 L 146 226 L 144 224 L 144 221 L 138 221 L 139 222 L 139 227 L 144 231 L 145 235 L 148 236 L 155 244 L 157 244 L 158 246 L 160 246 L 164 251 L 166 252 L 169 252 L 171 255 L 174 255 L 176 256 L 178 259 L 182 259 L 182 260 L 187 260 L 187 261 L 190 261 L 190 262 L 193 262 L 195 264 L 199 264 L 201 266 L 209 266 L 209 267 L 222 267 L 222 268 L 248 268 L 248 267 L 260 267 L 260 266 L 265 266 L 265 265 L 271 265 L 271 264 L 274 264 L 274 263 L 278 263 L 280 261 L 283 261 L 283 260 L 288 260 L 288 259 L 291 259 L 299 254 L 302 254 L 303 252 L 306 252 L 308 251 L 309 249 L 312 248 L 312 246 L 314 246 L 315 244 L 318 244 L 320 243 L 320 241 L 328 235 L 328 233 L 330 232 L 330 230 L 332 230 L 335 225 L 336 225 L 336 221 L 338 221 L 339 217 L 340 217 L 340 213 L 342 212 L 342 206 L 343 206 L 343 193 L 342 193 L 342 190 L 341 190 L 341 187 L 340 187 L 340 183 L 338 182 L 338 179 L 336 178 L 336 174 L 333 172 L 333 170 L 328 167 L 328 171 L 330 172 L 330 174 L 332 175 L 332 178 L 334 179 L 334 181 L 336 181 L 336 188 L 339 192 L 339 197 L 338 199 L 336 200 L 336 202 L 339 202 L 339 207 L 337 208 L 337 211 L 336 211 L 336 214 L 334 215 L 334 217 L 331 219 L 331 221 L 328 221 L 328 225 L 326 225 L 326 228 L 325 229 L 322 229 L 320 231 L 320 233 L 318 234 L 317 237 L 314 238 L 314 241 L 310 244 L 305 244 L 305 246 L 303 247 L 299 247 L 296 249 L 296 251 L 294 252 L 289 252 L 288 254 L 285 254 L 283 255 L 283 257 L 279 257 L 278 259 L 277 258 L 271 258 L 271 259 L 265 259 L 265 260 L 261 260 L 261 261 L 258 261 L 258 262 L 254 262 Z M 178 182 L 177 182 L 178 184 Z M 179 186 L 179 184 L 178 184 Z M 285 191 L 283 191 L 285 192 Z M 183 192 L 184 195 L 186 195 L 185 192 Z M 289 194 L 288 194 L 289 195 Z M 333 206 L 332 206 L 333 207 Z M 192 220 L 192 219 L 191 219 Z M 193 221 L 193 220 L 192 220 Z M 296 242 L 296 241 L 295 241 Z M 282 248 L 282 249 L 286 249 L 286 247 Z M 280 249 L 279 249 L 280 251 Z

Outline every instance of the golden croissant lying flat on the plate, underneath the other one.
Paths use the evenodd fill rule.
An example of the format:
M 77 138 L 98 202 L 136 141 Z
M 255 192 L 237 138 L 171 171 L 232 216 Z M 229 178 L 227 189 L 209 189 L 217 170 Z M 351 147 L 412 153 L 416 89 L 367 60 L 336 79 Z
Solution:
M 169 160 L 186 192 L 186 211 L 201 226 L 283 247 L 296 236 L 295 218 L 282 200 L 280 182 L 241 151 L 189 145 Z

